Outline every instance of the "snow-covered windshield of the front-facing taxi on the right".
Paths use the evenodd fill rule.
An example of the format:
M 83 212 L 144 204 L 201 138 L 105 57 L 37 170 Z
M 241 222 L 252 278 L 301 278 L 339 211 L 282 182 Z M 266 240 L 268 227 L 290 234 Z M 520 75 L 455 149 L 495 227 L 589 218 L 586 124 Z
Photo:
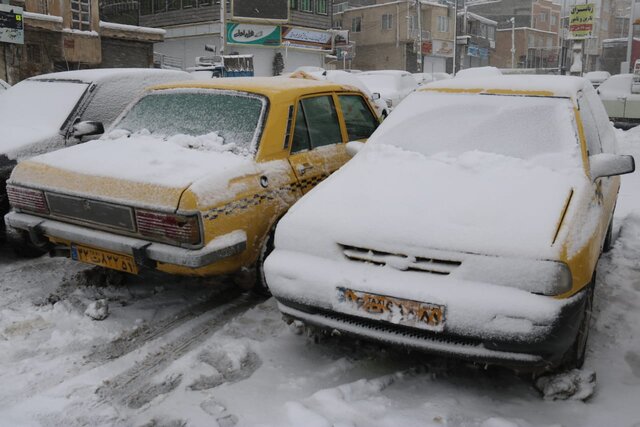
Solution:
M 419 92 L 369 141 L 427 156 L 480 151 L 564 168 L 579 165 L 575 129 L 567 98 Z

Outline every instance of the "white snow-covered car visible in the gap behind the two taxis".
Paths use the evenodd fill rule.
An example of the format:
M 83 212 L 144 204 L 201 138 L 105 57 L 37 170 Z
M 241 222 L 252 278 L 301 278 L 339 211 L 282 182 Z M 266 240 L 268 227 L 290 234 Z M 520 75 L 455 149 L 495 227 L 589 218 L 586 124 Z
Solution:
M 386 102 L 389 111 L 418 88 L 411 73 L 399 70 L 365 71 L 358 78 L 371 93 L 377 93 Z

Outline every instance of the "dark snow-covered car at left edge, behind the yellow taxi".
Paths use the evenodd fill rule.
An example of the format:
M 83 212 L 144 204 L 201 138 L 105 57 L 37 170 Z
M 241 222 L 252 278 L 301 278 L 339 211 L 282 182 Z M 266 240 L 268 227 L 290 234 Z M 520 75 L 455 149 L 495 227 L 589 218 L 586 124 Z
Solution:
M 96 138 L 145 87 L 191 78 L 114 68 L 43 74 L 11 87 L 0 97 L 0 215 L 9 212 L 5 182 L 18 161 Z

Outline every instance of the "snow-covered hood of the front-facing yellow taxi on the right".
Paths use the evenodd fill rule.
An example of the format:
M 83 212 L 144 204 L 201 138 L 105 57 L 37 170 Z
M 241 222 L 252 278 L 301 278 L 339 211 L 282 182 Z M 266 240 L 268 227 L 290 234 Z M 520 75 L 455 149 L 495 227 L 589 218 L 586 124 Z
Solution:
M 328 254 L 338 243 L 553 259 L 561 214 L 583 181 L 578 168 L 554 171 L 473 151 L 426 157 L 371 144 L 289 211 L 276 246 Z M 303 234 L 304 247 L 296 243 Z

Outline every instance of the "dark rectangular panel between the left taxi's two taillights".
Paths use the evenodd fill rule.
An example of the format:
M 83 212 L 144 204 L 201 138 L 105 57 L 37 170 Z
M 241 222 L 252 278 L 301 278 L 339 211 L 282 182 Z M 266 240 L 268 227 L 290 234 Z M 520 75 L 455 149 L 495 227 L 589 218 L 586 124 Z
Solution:
M 47 193 L 47 201 L 52 215 L 125 231 L 135 231 L 133 210 L 129 207 L 51 193 Z

